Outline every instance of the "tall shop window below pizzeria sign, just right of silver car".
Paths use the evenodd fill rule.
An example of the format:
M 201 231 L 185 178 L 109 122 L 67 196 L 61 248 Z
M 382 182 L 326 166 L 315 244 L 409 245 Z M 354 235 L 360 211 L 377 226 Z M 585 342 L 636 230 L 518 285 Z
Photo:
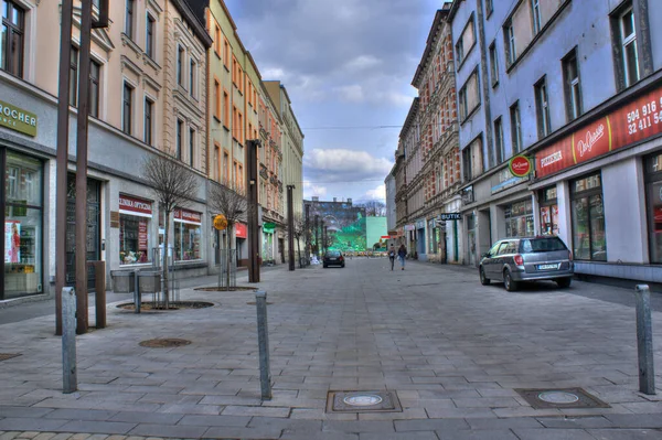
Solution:
M 570 193 L 575 259 L 607 261 L 605 206 L 600 174 L 573 181 Z

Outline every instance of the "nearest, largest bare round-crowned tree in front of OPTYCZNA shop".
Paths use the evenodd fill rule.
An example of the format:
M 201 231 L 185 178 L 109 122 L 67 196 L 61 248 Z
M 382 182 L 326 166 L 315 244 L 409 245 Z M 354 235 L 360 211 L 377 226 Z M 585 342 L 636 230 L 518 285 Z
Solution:
M 184 165 L 166 155 L 152 154 L 142 163 L 142 175 L 151 186 L 154 198 L 166 212 L 166 234 L 163 236 L 163 296 L 166 310 L 170 307 L 168 291 L 168 251 L 170 214 L 175 207 L 185 207 L 197 191 L 195 174 Z

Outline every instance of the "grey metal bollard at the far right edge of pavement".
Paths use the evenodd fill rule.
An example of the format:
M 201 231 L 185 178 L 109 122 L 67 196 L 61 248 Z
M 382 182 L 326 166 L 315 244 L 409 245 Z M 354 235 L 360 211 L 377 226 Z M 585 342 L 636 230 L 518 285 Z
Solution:
M 655 368 L 653 366 L 653 329 L 651 323 L 651 292 L 648 285 L 638 285 L 637 298 L 637 352 L 639 354 L 639 390 L 655 394 Z

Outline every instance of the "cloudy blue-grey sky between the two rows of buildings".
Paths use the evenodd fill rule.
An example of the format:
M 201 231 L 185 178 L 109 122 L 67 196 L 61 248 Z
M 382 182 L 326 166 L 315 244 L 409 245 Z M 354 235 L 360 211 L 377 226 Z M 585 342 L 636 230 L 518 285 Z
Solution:
M 441 1 L 226 4 L 263 79 L 287 88 L 306 136 L 305 182 L 293 184 L 303 185 L 306 198 L 383 201 L 399 127 L 416 96 L 412 79 Z

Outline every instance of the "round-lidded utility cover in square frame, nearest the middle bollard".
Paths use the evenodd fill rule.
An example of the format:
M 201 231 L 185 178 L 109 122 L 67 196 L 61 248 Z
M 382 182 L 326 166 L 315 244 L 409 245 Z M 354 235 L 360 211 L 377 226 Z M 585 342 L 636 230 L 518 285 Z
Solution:
M 395 391 L 330 391 L 327 412 L 402 412 Z

